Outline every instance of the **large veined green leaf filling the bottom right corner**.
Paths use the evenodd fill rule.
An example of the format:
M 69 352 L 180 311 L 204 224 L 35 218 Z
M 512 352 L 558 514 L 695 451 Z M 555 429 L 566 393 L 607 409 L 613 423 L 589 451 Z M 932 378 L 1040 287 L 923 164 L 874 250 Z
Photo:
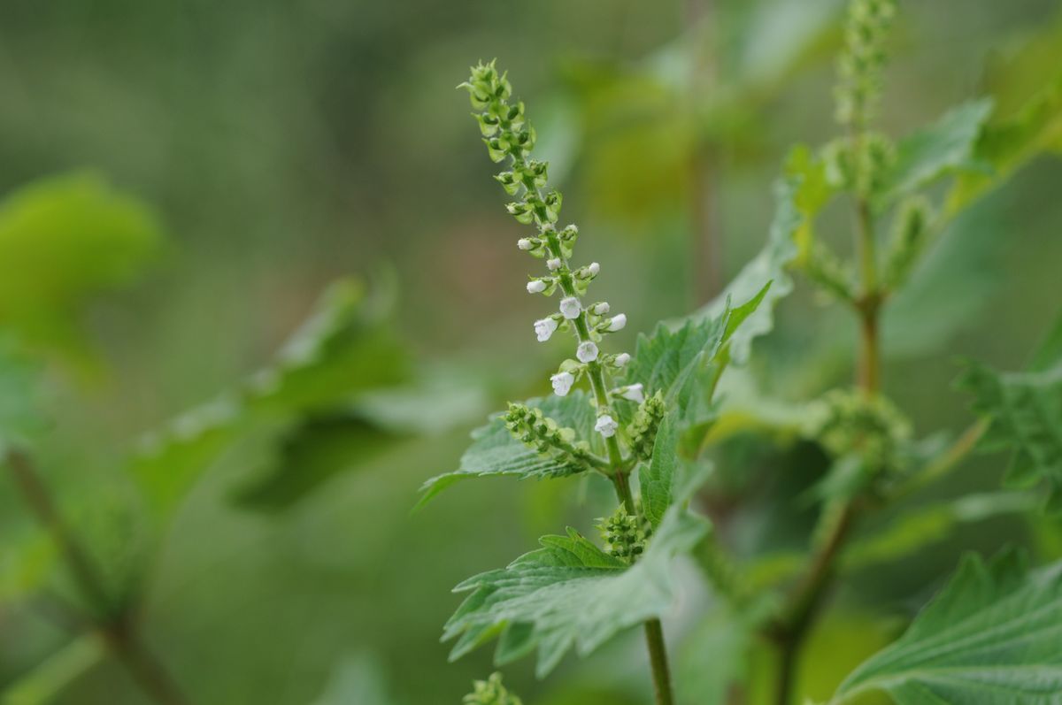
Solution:
M 897 705 L 1048 705 L 1062 692 L 1062 563 L 1029 572 L 1008 551 L 964 556 L 907 632 L 841 684 L 833 703 L 885 690 Z

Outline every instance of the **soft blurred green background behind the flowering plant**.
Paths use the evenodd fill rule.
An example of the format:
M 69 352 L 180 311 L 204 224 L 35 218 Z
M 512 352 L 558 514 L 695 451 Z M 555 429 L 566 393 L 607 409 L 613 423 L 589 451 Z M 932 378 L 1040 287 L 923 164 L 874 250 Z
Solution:
M 894 136 L 986 93 L 1013 111 L 1062 61 L 1052 0 L 901 4 L 879 120 Z M 450 588 L 603 511 L 595 486 L 496 480 L 411 514 L 487 413 L 548 391 L 563 346 L 534 343 L 543 302 L 523 292 L 525 229 L 453 89 L 468 65 L 497 56 L 510 71 L 631 349 L 759 250 L 788 147 L 835 135 L 842 17 L 834 0 L 0 5 L 0 328 L 44 380 L 40 474 L 115 599 L 137 596 L 144 640 L 193 702 L 457 703 L 492 668 L 490 649 L 447 664 Z M 949 389 L 956 357 L 1021 367 L 1057 314 L 1060 184 L 1057 160 L 1024 169 L 935 244 L 897 304 L 886 388 L 920 435 L 970 420 Z M 325 328 L 329 315 L 354 326 L 339 338 L 356 333 L 341 359 L 357 374 L 277 400 L 253 374 L 314 310 Z M 773 396 L 850 378 L 844 313 L 799 285 L 752 363 Z M 306 360 L 287 350 L 297 378 Z M 799 548 L 810 519 L 785 498 L 822 459 L 755 436 L 727 452 L 740 471 L 720 474 L 713 501 L 736 515 L 738 543 Z M 129 509 L 153 462 L 191 478 L 181 501 L 159 500 L 165 529 Z M 975 459 L 910 501 L 994 488 L 1003 462 Z M 296 467 L 311 470 L 292 479 Z M 856 573 L 812 636 L 805 694 L 825 697 L 889 640 L 957 551 L 1016 540 L 1044 555 L 1060 550 L 1052 531 L 999 516 L 902 572 Z M 47 553 L 39 538 L 2 476 L 0 690 L 148 702 L 22 599 L 20 585 L 70 590 L 45 558 L 23 560 Z M 683 642 L 710 598 L 686 572 L 668 627 L 680 672 L 696 675 L 705 656 L 684 657 Z M 546 682 L 525 660 L 507 682 L 528 705 L 645 703 L 640 649 L 632 635 Z

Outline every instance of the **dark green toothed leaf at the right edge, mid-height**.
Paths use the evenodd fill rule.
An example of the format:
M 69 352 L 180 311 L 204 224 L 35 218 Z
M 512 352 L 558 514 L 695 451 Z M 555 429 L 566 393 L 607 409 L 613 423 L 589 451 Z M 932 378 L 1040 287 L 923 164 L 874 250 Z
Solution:
M 1028 487 L 1044 482 L 1048 505 L 1062 510 L 1062 357 L 1038 356 L 1043 368 L 998 373 L 967 364 L 958 386 L 974 395 L 973 409 L 989 417 L 980 441 L 986 451 L 1010 450 L 1007 483 Z

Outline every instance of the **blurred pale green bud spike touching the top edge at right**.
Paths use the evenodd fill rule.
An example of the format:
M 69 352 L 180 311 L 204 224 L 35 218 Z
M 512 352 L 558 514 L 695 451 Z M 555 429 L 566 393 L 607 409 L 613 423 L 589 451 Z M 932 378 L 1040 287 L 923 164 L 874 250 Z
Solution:
M 835 93 L 837 121 L 854 132 L 866 130 L 881 94 L 885 38 L 895 14 L 895 0 L 855 0 L 849 7 Z

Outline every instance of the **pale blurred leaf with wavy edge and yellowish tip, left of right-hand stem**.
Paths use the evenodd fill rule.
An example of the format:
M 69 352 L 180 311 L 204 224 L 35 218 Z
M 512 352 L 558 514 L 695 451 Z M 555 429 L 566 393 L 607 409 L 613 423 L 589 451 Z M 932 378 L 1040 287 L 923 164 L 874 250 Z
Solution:
M 732 331 L 730 357 L 738 364 L 749 359 L 752 341 L 774 327 L 774 306 L 793 289 L 788 268 L 801 255 L 799 240 L 810 237 L 813 216 L 825 205 L 832 191 L 825 184 L 821 164 L 810 158 L 807 148 L 794 148 L 787 159 L 785 175 L 774 187 L 776 209 L 767 244 L 715 300 L 693 314 L 695 321 L 718 320 L 726 314 L 731 300 L 758 299 Z M 764 283 L 770 282 L 770 290 Z

